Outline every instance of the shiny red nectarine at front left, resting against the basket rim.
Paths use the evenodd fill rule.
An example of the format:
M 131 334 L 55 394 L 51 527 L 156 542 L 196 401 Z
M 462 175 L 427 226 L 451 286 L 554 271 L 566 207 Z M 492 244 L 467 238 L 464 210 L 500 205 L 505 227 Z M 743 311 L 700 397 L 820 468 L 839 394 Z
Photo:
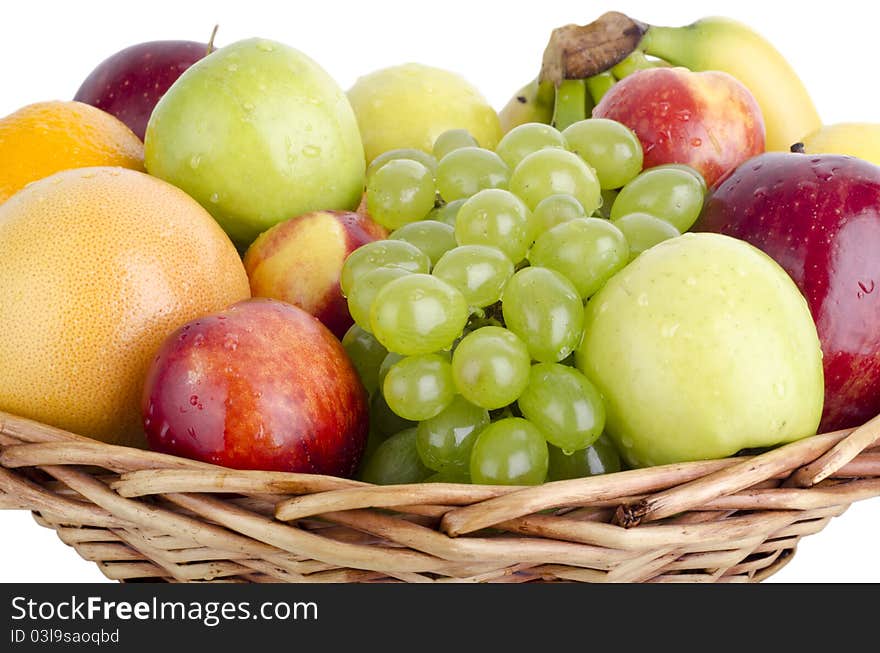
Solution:
M 250 299 L 168 337 L 147 376 L 156 451 L 235 469 L 350 477 L 367 394 L 339 341 L 305 311 Z

